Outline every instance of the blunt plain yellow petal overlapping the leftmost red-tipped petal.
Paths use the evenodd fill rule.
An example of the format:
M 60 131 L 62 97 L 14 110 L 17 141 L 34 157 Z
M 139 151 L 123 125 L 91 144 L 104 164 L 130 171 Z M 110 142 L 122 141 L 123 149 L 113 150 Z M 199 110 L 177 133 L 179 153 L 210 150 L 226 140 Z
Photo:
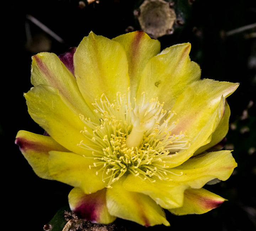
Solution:
M 93 193 L 107 186 L 102 180 L 102 175 L 96 174 L 100 167 L 94 167 L 94 162 L 94 158 L 73 152 L 51 151 L 49 175 L 55 180 L 81 188 L 86 194 Z

